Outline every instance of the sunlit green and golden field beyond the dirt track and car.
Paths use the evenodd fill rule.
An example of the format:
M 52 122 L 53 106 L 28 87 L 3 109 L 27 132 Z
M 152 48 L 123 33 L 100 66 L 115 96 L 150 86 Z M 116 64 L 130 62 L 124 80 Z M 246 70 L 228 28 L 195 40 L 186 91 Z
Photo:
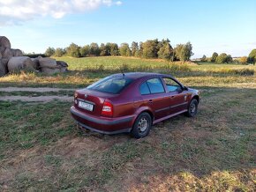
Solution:
M 235 64 L 196 64 L 168 63 L 162 60 L 147 60 L 130 57 L 60 57 L 69 63 L 69 72 L 44 76 L 37 73 L 21 73 L 0 78 L 2 86 L 50 86 L 50 87 L 83 87 L 99 78 L 113 73 L 147 71 L 172 74 L 184 83 L 193 85 L 230 85 L 242 82 L 255 83 L 256 66 Z M 209 81 L 209 79 L 211 79 Z M 254 83 L 253 83 L 254 82 Z

